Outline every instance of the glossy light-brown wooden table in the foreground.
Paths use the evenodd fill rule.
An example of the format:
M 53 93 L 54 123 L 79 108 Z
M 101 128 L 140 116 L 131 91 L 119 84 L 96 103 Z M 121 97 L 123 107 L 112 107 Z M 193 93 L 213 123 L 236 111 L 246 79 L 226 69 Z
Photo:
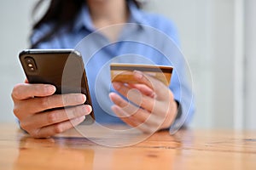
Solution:
M 99 141 L 104 138 L 93 136 Z M 256 132 L 186 129 L 171 136 L 165 131 L 138 144 L 107 147 L 74 130 L 54 138 L 32 139 L 17 125 L 2 124 L 0 169 L 255 170 Z

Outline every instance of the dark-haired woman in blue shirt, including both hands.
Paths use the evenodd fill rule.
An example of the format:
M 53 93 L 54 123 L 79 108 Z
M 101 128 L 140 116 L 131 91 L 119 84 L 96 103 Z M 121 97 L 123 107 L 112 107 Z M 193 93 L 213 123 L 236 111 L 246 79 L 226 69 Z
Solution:
M 168 37 L 166 40 L 157 36 L 163 34 L 161 32 Z M 125 122 L 131 127 L 139 127 L 145 133 L 169 129 L 180 117 L 186 115 L 183 112 L 187 111 L 187 105 L 191 105 L 188 96 L 192 94 L 188 84 L 176 74 L 172 76 L 170 88 L 140 71 L 133 72 L 134 77 L 140 82 L 138 85 L 113 82 L 113 88 L 135 104 L 132 105 L 119 94 L 111 92 L 111 110 L 116 116 L 109 114 L 108 108 L 104 109 L 109 105 L 105 102 L 107 99 L 103 103 L 98 101 L 98 94 L 103 99 L 108 96 L 103 89 L 108 88 L 109 81 L 108 77 L 104 76 L 105 71 L 101 78 L 97 76 L 105 63 L 114 61 L 111 60 L 113 56 L 143 55 L 148 56 L 147 59 L 153 60 L 156 64 L 166 65 L 166 59 L 163 57 L 153 57 L 161 56 L 159 51 L 146 43 L 139 43 L 137 38 L 142 42 L 145 39 L 157 42 L 155 45 L 163 51 L 169 51 L 170 47 L 165 43 L 170 38 L 178 44 L 176 31 L 170 21 L 159 15 L 143 12 L 140 3 L 133 0 L 52 0 L 44 17 L 33 27 L 31 41 L 32 48 L 79 49 L 86 63 L 96 122 Z M 91 55 L 94 55 L 93 58 Z M 135 63 L 143 60 L 136 57 L 135 55 Z M 173 61 L 174 66 L 183 74 L 183 60 L 176 60 L 177 62 L 175 59 Z M 100 84 L 100 88 L 94 89 L 97 84 Z M 180 100 L 182 91 L 183 95 L 187 96 L 184 101 Z M 33 137 L 49 137 L 64 132 L 83 122 L 84 116 L 92 110 L 90 105 L 82 105 L 86 99 L 84 94 L 53 95 L 54 93 L 55 87 L 51 85 L 28 82 L 17 84 L 13 89 L 15 116 L 20 121 L 20 127 Z M 65 106 L 63 103 L 73 105 L 69 108 L 73 112 L 72 115 L 67 116 L 64 110 L 45 111 Z M 191 116 L 193 107 L 189 106 L 187 112 Z

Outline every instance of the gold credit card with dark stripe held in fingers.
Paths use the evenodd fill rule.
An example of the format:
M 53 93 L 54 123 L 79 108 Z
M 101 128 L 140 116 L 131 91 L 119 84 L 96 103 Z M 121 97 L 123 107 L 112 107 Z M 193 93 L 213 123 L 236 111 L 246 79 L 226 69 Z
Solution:
M 142 71 L 144 74 L 154 77 L 169 86 L 172 70 L 172 66 L 166 65 L 110 64 L 111 82 L 137 83 L 132 71 Z

